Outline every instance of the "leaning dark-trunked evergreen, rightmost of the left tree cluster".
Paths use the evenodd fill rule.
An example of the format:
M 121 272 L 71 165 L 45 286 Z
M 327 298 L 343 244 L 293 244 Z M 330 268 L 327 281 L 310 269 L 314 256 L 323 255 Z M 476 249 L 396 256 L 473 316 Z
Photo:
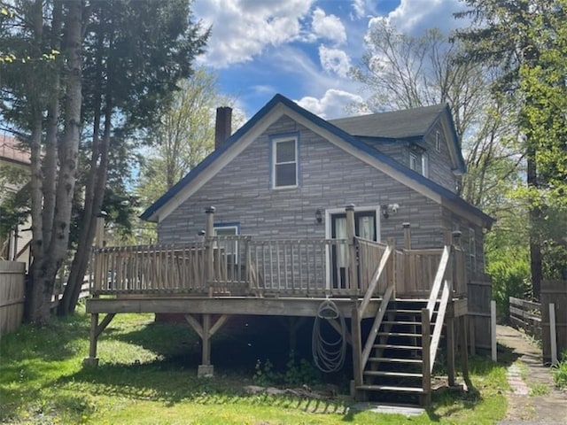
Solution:
M 96 217 L 105 199 L 111 143 L 124 143 L 133 129 L 151 128 L 177 81 L 192 73 L 208 32 L 190 22 L 187 0 L 91 4 L 86 28 L 83 115 L 92 126 L 81 236 L 58 313 L 74 311 L 89 264 Z

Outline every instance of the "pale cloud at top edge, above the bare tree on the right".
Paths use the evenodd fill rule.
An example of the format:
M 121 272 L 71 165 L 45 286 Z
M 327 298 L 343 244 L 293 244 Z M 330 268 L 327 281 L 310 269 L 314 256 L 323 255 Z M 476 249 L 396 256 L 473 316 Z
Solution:
M 400 5 L 384 19 L 400 33 L 422 35 L 428 28 L 437 27 L 446 34 L 457 27 L 466 27 L 466 19 L 454 19 L 453 13 L 465 8 L 461 0 L 401 0 Z M 369 27 L 374 19 L 370 19 Z

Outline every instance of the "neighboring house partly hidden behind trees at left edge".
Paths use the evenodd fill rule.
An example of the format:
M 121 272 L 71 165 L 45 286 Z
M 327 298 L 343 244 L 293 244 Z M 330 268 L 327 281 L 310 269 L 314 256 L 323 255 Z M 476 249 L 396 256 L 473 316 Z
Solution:
M 9 135 L 0 135 L 0 203 L 9 192 L 17 192 L 26 184 L 25 178 L 16 179 L 18 182 L 10 182 L 6 179 L 7 174 L 29 174 L 30 171 L 29 152 L 22 149 L 18 141 Z M 4 173 L 5 172 L 5 173 Z M 0 220 L 2 218 L 0 217 Z M 31 241 L 31 221 L 17 228 L 13 228 L 5 234 L 0 233 L 0 258 L 16 259 L 28 263 L 29 242 Z

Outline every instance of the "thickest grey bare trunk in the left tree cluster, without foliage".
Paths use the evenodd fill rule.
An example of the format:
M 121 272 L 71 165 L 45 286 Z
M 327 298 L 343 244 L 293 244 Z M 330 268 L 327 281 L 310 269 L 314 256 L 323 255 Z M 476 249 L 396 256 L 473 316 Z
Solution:
M 59 174 L 49 247 L 32 269 L 31 321 L 47 322 L 55 276 L 66 257 L 69 224 L 76 181 L 82 104 L 82 2 L 66 1 L 66 102 L 65 132 L 59 149 Z

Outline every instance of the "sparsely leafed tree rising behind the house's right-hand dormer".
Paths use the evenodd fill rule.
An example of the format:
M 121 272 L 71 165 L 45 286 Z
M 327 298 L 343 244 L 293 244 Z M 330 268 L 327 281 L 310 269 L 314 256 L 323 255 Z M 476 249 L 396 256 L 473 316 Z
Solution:
M 475 62 L 457 61 L 462 44 L 449 42 L 437 29 L 413 37 L 379 21 L 366 49 L 352 72 L 371 93 L 365 106 L 408 109 L 447 102 L 468 169 L 462 197 L 487 213 L 505 208 L 500 194 L 516 181 L 518 161 L 507 104 L 487 89 L 493 76 Z

